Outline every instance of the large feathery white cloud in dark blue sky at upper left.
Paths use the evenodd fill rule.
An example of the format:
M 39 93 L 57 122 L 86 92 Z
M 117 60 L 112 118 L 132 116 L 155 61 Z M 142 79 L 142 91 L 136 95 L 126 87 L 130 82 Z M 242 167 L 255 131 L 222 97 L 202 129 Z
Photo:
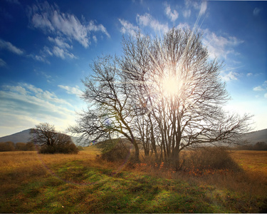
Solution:
M 88 25 L 81 24 L 75 15 L 62 13 L 56 4 L 50 5 L 47 1 L 28 7 L 28 18 L 33 28 L 41 29 L 45 34 L 66 36 L 70 41 L 78 41 L 85 48 L 90 45 L 92 32 L 100 32 L 110 37 L 102 24 L 95 24 L 94 21 L 90 21 Z

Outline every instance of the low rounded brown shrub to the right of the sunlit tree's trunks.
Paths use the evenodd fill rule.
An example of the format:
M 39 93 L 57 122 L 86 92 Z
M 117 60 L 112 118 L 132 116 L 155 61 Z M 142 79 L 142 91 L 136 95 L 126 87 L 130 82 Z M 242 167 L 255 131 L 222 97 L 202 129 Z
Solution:
M 207 147 L 191 151 L 187 156 L 185 165 L 189 168 L 199 169 L 229 169 L 238 170 L 238 165 L 233 161 L 226 148 Z

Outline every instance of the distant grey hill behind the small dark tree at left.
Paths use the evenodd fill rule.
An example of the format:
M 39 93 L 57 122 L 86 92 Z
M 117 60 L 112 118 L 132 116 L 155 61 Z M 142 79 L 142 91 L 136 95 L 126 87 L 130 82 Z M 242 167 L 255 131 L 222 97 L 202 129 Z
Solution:
M 14 143 L 27 143 L 31 137 L 30 130 L 31 128 L 26 129 L 21 132 L 14 133 L 10 136 L 1 137 L 0 142 L 11 141 Z M 75 143 L 76 145 L 79 145 L 77 137 L 70 136 L 70 138 L 73 140 L 73 143 Z

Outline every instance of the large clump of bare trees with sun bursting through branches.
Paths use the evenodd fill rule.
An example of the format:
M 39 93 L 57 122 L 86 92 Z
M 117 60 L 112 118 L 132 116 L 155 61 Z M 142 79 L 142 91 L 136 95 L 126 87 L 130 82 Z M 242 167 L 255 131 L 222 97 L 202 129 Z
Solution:
M 179 167 L 179 152 L 210 144 L 237 143 L 248 120 L 223 111 L 229 100 L 219 72 L 201 44 L 201 33 L 171 29 L 163 39 L 137 33 L 122 39 L 120 58 L 103 56 L 83 80 L 88 110 L 70 131 L 92 141 L 125 136 L 145 154 Z

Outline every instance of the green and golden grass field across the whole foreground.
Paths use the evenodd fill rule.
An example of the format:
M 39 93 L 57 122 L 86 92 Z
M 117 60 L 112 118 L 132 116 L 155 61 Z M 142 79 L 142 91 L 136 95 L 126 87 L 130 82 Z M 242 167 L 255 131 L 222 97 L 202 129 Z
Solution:
M 0 153 L 0 213 L 266 213 L 267 152 L 231 153 L 243 170 L 194 175 L 77 155 Z

